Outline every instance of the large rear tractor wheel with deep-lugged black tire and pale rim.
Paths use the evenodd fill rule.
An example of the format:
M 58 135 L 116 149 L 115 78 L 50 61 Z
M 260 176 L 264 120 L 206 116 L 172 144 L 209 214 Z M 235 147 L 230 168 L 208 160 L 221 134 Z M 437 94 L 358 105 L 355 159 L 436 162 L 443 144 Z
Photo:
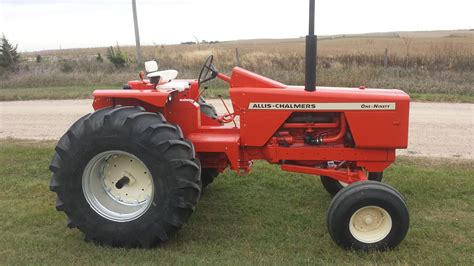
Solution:
M 168 240 L 199 200 L 199 166 L 181 130 L 140 107 L 84 116 L 59 140 L 50 166 L 56 209 L 86 240 L 151 247 Z

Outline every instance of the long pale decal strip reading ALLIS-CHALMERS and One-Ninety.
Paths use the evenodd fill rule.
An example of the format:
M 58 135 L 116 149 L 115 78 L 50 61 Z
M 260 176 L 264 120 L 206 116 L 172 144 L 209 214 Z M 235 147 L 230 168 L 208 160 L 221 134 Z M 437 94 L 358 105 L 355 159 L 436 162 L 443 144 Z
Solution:
M 250 103 L 254 110 L 395 110 L 396 103 Z

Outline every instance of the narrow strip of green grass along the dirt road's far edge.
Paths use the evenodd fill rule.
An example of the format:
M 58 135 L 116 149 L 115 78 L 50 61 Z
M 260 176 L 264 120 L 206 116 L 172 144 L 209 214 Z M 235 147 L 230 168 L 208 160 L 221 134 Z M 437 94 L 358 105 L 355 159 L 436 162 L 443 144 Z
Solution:
M 89 99 L 94 90 L 121 89 L 117 85 L 100 86 L 70 86 L 45 88 L 16 88 L 0 89 L 0 101 L 24 100 L 62 100 L 62 99 Z M 229 98 L 227 88 L 209 88 L 203 94 L 206 98 L 215 99 L 221 95 Z M 410 93 L 411 99 L 421 102 L 458 102 L 474 103 L 473 95 L 442 94 L 442 93 Z

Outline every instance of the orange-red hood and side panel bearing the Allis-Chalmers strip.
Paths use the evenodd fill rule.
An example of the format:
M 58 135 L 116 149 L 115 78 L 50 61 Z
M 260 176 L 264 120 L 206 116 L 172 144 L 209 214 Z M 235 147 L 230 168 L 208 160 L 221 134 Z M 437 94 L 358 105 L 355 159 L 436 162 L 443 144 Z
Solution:
M 410 98 L 399 90 L 303 87 L 231 88 L 241 116 L 243 146 L 263 146 L 293 112 L 338 112 L 347 117 L 356 147 L 405 148 Z

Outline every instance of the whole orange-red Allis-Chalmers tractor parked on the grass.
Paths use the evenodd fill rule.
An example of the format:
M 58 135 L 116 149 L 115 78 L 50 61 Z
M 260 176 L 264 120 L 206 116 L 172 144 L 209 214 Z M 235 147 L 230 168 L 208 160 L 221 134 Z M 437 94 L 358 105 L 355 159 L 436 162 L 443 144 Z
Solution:
M 317 87 L 314 0 L 305 86 L 287 86 L 236 67 L 198 79 L 145 64 L 147 79 L 94 92 L 95 112 L 59 140 L 50 188 L 68 226 L 110 246 L 151 247 L 189 219 L 201 191 L 225 169 L 254 160 L 321 176 L 333 195 L 328 230 L 342 247 L 385 250 L 409 226 L 402 195 L 381 183 L 408 143 L 410 97 L 400 90 Z M 143 77 L 143 75 L 142 75 Z M 229 84 L 232 110 L 218 115 L 203 84 Z

